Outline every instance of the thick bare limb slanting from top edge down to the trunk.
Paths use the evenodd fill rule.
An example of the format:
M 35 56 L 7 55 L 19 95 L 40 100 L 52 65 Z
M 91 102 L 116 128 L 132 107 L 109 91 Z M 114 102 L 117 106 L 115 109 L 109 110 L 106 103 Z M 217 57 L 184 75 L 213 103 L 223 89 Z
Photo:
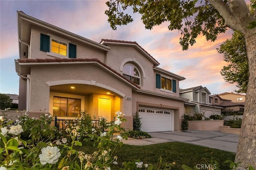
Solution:
M 225 20 L 225 25 L 231 29 L 236 29 L 244 33 L 244 28 L 240 25 L 240 22 L 236 19 L 230 8 L 222 0 L 207 0 L 214 8 L 220 13 Z

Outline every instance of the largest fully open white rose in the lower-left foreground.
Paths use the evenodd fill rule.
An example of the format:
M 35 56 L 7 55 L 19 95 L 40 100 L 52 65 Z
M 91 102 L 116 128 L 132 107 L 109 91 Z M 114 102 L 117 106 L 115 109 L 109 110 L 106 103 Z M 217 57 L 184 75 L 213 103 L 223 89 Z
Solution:
M 58 158 L 60 157 L 60 149 L 58 147 L 50 147 L 47 146 L 46 148 L 42 149 L 42 153 L 39 155 L 40 162 L 42 165 L 48 164 L 55 164 L 58 162 Z

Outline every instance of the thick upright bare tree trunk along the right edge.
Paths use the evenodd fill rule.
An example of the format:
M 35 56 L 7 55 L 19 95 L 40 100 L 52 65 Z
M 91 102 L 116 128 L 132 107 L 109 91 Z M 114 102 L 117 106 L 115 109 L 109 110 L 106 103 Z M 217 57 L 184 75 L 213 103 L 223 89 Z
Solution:
M 256 168 L 256 28 L 246 31 L 249 82 L 235 162 Z M 239 170 L 245 170 L 245 167 Z

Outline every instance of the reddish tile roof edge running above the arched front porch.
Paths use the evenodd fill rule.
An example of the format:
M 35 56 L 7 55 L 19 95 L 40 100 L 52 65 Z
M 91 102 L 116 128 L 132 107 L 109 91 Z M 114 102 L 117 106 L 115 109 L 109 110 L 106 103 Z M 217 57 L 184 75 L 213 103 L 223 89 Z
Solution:
M 132 84 L 133 86 L 136 86 L 136 88 L 140 89 L 140 86 L 138 86 L 138 84 L 135 84 L 134 82 L 128 80 L 126 77 L 124 77 L 122 74 L 120 74 L 119 72 L 116 72 L 116 70 L 112 69 L 110 66 L 107 66 L 105 63 L 102 63 L 99 59 L 93 58 L 93 59 L 18 59 L 19 63 L 52 63 L 52 62 L 89 62 L 89 61 L 95 61 L 97 63 L 99 63 L 100 65 L 108 68 L 110 71 L 114 72 L 114 74 L 120 76 L 121 78 L 123 78 L 124 80 L 126 80 L 127 82 L 129 82 L 130 84 Z

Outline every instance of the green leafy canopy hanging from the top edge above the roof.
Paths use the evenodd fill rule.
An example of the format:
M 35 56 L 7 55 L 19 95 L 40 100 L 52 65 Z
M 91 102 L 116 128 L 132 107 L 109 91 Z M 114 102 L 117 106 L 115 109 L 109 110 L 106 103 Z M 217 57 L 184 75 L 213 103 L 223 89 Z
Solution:
M 109 10 L 106 10 L 105 14 L 112 29 L 133 21 L 132 16 L 124 13 L 128 6 L 131 6 L 134 13 L 142 15 L 146 29 L 168 22 L 170 31 L 179 30 L 183 50 L 196 43 L 195 39 L 201 33 L 207 41 L 214 41 L 219 33 L 226 31 L 222 16 L 208 1 L 110 0 L 106 4 Z

